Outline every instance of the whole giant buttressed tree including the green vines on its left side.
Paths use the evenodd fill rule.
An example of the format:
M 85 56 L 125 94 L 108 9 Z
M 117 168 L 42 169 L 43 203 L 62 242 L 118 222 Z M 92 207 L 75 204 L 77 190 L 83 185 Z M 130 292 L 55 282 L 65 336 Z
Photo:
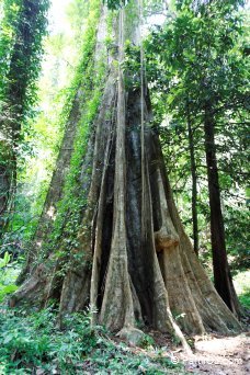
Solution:
M 130 1 L 111 13 L 90 1 L 66 125 L 73 135 L 67 147 L 63 141 L 24 282 L 10 304 L 53 300 L 61 323 L 65 314 L 90 305 L 93 323 L 121 337 L 134 340 L 137 327 L 148 326 L 175 334 L 189 350 L 182 330 L 230 332 L 240 325 L 180 221 L 150 126 L 143 52 L 137 71 L 124 64 L 125 41 L 141 38 L 139 9 Z M 183 317 L 179 325 L 175 315 Z

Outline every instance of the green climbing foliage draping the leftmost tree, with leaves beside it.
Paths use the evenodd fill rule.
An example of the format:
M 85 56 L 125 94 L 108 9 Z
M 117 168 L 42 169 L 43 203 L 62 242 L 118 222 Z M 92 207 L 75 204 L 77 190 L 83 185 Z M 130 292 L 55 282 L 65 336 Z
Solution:
M 16 175 L 32 154 L 27 137 L 37 102 L 36 83 L 41 71 L 43 37 L 46 34 L 48 0 L 4 0 L 0 33 L 0 237 L 8 230 L 14 207 Z M 4 225 L 2 225 L 4 223 Z

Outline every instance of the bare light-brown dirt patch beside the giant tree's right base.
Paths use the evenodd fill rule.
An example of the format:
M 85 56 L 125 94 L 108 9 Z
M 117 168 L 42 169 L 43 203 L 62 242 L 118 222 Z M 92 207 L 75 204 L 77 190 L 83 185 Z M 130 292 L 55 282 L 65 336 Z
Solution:
M 195 337 L 194 354 L 173 352 L 172 361 L 183 363 L 188 373 L 245 375 L 250 373 L 250 337 Z

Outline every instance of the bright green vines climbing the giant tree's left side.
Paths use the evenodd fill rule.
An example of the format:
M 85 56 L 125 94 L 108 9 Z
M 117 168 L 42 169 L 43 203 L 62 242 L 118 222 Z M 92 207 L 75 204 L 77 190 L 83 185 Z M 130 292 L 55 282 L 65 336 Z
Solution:
M 82 43 L 82 58 L 77 69 L 67 106 L 64 113 L 65 124 L 67 123 L 72 103 L 76 96 L 81 92 L 84 98 L 81 103 L 81 117 L 78 122 L 78 129 L 73 145 L 73 152 L 70 161 L 70 170 L 66 178 L 64 194 L 58 203 L 58 214 L 55 220 L 54 230 L 52 234 L 52 242 L 49 247 L 59 248 L 57 254 L 65 255 L 60 250 L 66 248 L 66 253 L 70 249 L 78 246 L 77 234 L 81 220 L 82 211 L 87 206 L 88 181 L 91 175 L 91 168 L 88 168 L 84 173 L 84 181 L 81 180 L 81 166 L 87 151 L 89 136 L 91 134 L 91 125 L 96 116 L 100 99 L 102 95 L 102 84 L 105 71 L 103 60 L 96 64 L 93 59 L 95 46 L 95 31 L 100 16 L 100 1 L 91 2 L 87 29 Z M 86 185 L 86 190 L 79 190 L 79 184 Z M 64 234 L 64 236 L 63 236 Z

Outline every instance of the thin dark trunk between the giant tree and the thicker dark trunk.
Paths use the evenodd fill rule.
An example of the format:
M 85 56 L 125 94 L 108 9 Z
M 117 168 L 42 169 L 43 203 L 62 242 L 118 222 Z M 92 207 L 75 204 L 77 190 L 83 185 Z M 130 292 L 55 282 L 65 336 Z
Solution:
M 192 221 L 193 221 L 193 241 L 194 252 L 198 254 L 198 220 L 197 220 L 197 172 L 194 154 L 194 135 L 191 123 L 189 100 L 186 102 L 186 121 L 190 147 L 191 175 L 192 175 Z

